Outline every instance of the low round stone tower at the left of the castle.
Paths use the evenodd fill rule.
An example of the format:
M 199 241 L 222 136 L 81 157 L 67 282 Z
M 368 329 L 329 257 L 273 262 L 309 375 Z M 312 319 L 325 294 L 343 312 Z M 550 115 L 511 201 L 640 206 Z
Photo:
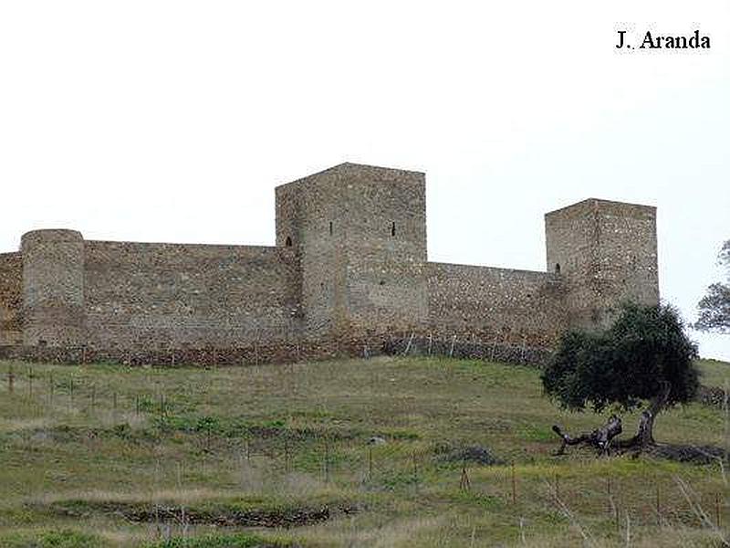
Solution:
M 23 235 L 23 343 L 84 342 L 84 238 L 75 230 Z

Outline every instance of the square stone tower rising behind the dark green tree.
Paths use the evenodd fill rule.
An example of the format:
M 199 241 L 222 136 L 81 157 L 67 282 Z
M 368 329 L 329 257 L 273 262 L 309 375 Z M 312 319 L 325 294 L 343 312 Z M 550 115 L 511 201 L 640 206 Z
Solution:
M 547 213 L 545 232 L 570 327 L 605 328 L 626 300 L 659 302 L 655 207 L 590 198 Z

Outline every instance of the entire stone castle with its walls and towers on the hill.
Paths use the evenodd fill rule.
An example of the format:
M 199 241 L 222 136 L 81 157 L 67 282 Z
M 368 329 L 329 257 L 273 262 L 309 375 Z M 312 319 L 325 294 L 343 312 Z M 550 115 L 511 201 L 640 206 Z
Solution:
M 659 300 L 654 207 L 589 199 L 548 213 L 536 272 L 429 262 L 425 199 L 422 173 L 343 163 L 276 187 L 274 247 L 28 232 L 0 254 L 0 349 L 250 363 L 415 341 L 527 360 L 622 300 Z

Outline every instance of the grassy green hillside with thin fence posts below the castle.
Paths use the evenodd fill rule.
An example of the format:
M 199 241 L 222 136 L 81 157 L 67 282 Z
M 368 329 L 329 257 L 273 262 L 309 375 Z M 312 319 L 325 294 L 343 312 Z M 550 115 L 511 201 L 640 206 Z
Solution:
M 714 385 L 730 371 L 701 367 Z M 719 463 L 552 456 L 552 424 L 601 417 L 558 411 L 525 367 L 0 362 L 0 375 L 0 546 L 711 546 L 730 525 Z M 678 408 L 656 436 L 723 446 L 725 417 Z

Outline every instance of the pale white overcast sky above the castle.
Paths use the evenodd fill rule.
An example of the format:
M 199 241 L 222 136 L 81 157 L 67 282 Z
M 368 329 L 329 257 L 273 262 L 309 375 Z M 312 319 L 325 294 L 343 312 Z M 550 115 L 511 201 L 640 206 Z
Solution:
M 695 28 L 709 50 L 614 47 Z M 729 131 L 728 0 L 0 4 L 0 251 L 273 245 L 276 184 L 374 163 L 426 172 L 436 261 L 543 270 L 545 212 L 656 205 L 662 298 L 694 321 Z

